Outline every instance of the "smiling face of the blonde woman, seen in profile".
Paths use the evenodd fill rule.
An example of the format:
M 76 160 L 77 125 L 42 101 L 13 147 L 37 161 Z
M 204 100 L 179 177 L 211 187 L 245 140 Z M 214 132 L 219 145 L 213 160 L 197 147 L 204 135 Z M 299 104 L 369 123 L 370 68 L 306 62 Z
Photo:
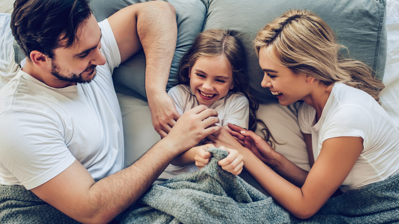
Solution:
M 309 95 L 306 76 L 274 62 L 265 48 L 259 51 L 259 65 L 264 72 L 262 87 L 269 88 L 281 105 L 290 105 Z

